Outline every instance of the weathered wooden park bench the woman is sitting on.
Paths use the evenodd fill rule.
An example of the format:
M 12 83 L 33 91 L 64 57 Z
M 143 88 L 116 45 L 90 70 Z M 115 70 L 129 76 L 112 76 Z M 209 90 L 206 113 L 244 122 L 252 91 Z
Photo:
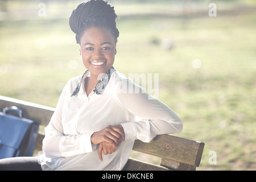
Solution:
M 23 112 L 23 118 L 32 119 L 39 126 L 48 125 L 54 109 L 43 105 L 33 104 L 0 96 L 0 111 L 8 106 L 17 106 Z M 35 151 L 42 150 L 44 133 L 39 131 Z M 160 165 L 129 159 L 123 170 L 127 171 L 166 171 L 166 170 L 196 170 L 199 167 L 204 150 L 204 143 L 175 137 L 158 135 L 150 143 L 135 140 L 134 151 L 143 152 L 161 158 Z M 36 153 L 37 154 L 37 153 Z

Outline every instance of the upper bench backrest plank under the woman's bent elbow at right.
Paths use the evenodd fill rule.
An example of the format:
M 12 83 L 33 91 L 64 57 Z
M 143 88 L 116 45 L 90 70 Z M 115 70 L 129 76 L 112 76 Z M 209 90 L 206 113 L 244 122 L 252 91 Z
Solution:
M 199 166 L 203 154 L 204 143 L 175 137 L 158 135 L 150 143 L 135 140 L 133 150 L 174 160 L 192 166 Z

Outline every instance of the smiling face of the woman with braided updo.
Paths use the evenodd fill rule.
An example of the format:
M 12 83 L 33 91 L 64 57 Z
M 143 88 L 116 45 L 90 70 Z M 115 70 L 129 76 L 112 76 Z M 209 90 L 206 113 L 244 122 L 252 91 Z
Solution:
M 92 27 L 80 38 L 82 63 L 91 76 L 106 73 L 114 64 L 116 53 L 114 36 L 106 28 Z

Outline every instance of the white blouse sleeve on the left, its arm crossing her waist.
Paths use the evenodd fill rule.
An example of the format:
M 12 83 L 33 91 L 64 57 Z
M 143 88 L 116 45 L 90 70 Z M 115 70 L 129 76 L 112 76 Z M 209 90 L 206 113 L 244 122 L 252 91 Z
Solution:
M 66 97 L 65 88 L 60 95 L 51 121 L 45 129 L 46 137 L 43 139 L 43 152 L 46 156 L 72 156 L 92 152 L 95 148 L 90 140 L 92 134 L 64 135 L 61 118 Z

